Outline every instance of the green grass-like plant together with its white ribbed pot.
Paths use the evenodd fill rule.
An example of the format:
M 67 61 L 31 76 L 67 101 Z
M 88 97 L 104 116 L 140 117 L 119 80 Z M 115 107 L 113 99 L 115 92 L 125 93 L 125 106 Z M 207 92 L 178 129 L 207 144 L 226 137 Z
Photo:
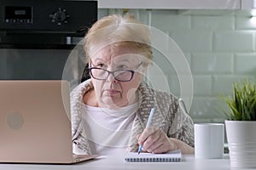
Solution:
M 246 79 L 233 83 L 224 111 L 231 167 L 256 167 L 256 84 Z

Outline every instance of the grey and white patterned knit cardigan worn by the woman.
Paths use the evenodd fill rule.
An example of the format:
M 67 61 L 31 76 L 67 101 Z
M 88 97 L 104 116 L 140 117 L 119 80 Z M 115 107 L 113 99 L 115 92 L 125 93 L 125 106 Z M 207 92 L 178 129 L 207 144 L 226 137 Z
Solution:
M 89 80 L 80 83 L 71 93 L 71 118 L 73 133 L 73 150 L 79 150 L 80 154 L 91 154 L 90 145 L 86 137 L 86 129 L 82 122 L 82 104 L 84 94 L 93 88 Z M 137 89 L 139 94 L 139 109 L 131 128 L 131 137 L 128 142 L 127 151 L 137 151 L 137 134 L 142 133 L 146 127 L 151 108 L 155 112 L 151 126 L 160 127 L 169 138 L 182 140 L 184 143 L 194 147 L 194 126 L 191 117 L 178 105 L 178 100 L 172 94 L 156 91 L 148 88 L 142 82 Z

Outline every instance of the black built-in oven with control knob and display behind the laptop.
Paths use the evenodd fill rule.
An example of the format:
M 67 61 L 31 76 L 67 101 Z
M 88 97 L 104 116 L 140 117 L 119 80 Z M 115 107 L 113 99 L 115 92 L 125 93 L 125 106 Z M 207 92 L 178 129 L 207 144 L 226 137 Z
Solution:
M 0 79 L 61 79 L 71 54 L 80 78 L 97 1 L 0 0 L 0 16 Z

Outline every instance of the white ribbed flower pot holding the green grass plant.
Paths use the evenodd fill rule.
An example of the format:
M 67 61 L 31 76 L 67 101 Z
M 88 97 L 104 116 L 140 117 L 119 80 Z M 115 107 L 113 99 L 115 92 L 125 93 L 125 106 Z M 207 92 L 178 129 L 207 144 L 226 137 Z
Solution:
M 225 121 L 231 167 L 256 167 L 256 122 Z

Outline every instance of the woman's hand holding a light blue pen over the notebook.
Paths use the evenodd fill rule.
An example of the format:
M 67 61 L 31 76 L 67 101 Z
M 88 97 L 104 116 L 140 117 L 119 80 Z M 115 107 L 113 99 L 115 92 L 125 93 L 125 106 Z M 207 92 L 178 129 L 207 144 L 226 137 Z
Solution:
M 143 151 L 150 153 L 165 153 L 177 150 L 177 144 L 166 136 L 159 127 L 146 127 L 143 133 L 137 135 L 138 144 L 143 144 Z

